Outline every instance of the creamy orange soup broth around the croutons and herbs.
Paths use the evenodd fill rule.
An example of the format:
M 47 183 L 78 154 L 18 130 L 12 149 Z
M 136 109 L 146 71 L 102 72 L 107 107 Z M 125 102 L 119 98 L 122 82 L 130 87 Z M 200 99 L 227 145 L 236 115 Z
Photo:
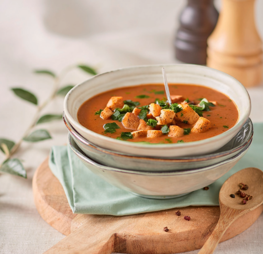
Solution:
M 239 113 L 237 107 L 235 106 L 234 102 L 223 93 L 201 85 L 169 84 L 169 89 L 171 95 L 182 95 L 185 98 L 189 98 L 190 101 L 194 100 L 199 102 L 199 98 L 206 98 L 209 101 L 216 101 L 218 105 L 215 107 L 210 107 L 210 111 L 203 111 L 203 117 L 209 119 L 211 122 L 211 129 L 203 133 L 190 133 L 189 135 L 184 135 L 179 138 L 163 135 L 154 139 L 146 137 L 131 138 L 127 139 L 127 141 L 146 141 L 151 143 L 177 143 L 178 140 L 183 140 L 184 142 L 197 141 L 216 136 L 223 133 L 224 131 L 229 130 L 238 120 Z M 163 91 L 163 94 L 155 94 L 156 91 Z M 143 99 L 135 98 L 138 95 L 147 95 L 150 97 Z M 91 131 L 111 138 L 120 137 L 122 132 L 135 131 L 124 128 L 122 126 L 122 122 L 114 121 L 111 118 L 104 120 L 100 118 L 99 115 L 95 115 L 96 111 L 106 107 L 108 100 L 112 96 L 122 96 L 123 100 L 138 101 L 140 102 L 140 105 L 137 107 L 140 107 L 154 102 L 156 98 L 161 100 L 166 97 L 166 94 L 163 84 L 138 85 L 109 90 L 88 99 L 81 105 L 77 112 L 79 123 Z M 116 132 L 113 134 L 105 133 L 103 125 L 113 122 L 117 123 L 120 129 L 116 129 Z M 193 125 L 185 124 L 179 121 L 176 122 L 176 125 L 181 128 L 193 127 Z

